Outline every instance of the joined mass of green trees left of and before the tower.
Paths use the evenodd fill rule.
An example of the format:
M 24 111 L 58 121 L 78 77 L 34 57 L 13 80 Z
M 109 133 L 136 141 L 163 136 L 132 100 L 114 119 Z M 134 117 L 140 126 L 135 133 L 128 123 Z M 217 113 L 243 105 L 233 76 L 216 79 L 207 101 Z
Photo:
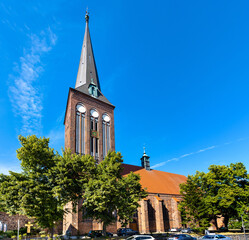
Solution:
M 96 165 L 89 155 L 66 150 L 60 156 L 49 147 L 48 138 L 19 136 L 19 141 L 17 157 L 22 172 L 0 175 L 0 211 L 32 217 L 41 228 L 50 229 L 51 235 L 56 221 L 67 211 L 64 206 L 68 202 L 76 207 L 83 198 L 87 216 L 106 227 L 115 220 L 116 212 L 127 224 L 138 201 L 146 196 L 138 175 L 122 177 L 120 153 L 109 152 Z

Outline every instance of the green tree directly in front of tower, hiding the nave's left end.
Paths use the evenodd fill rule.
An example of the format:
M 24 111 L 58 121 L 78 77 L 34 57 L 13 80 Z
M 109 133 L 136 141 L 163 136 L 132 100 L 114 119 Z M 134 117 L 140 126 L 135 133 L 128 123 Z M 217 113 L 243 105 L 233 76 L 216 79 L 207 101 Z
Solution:
M 139 183 L 139 176 L 131 173 L 126 177 L 122 173 L 122 156 L 109 152 L 96 166 L 96 175 L 85 185 L 82 209 L 84 217 L 91 217 L 106 227 L 116 221 L 117 215 L 122 225 L 132 220 L 138 201 L 147 196 Z

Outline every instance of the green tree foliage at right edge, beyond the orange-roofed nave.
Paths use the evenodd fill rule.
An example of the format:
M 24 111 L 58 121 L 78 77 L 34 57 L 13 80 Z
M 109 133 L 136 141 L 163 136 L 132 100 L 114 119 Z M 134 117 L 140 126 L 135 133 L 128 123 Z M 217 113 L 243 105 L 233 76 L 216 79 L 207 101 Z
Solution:
M 188 176 L 180 188 L 179 209 L 185 221 L 197 221 L 199 226 L 206 227 L 213 219 L 217 227 L 217 218 L 222 216 L 227 227 L 229 218 L 240 217 L 248 208 L 249 175 L 242 163 L 211 165 L 208 173 Z

